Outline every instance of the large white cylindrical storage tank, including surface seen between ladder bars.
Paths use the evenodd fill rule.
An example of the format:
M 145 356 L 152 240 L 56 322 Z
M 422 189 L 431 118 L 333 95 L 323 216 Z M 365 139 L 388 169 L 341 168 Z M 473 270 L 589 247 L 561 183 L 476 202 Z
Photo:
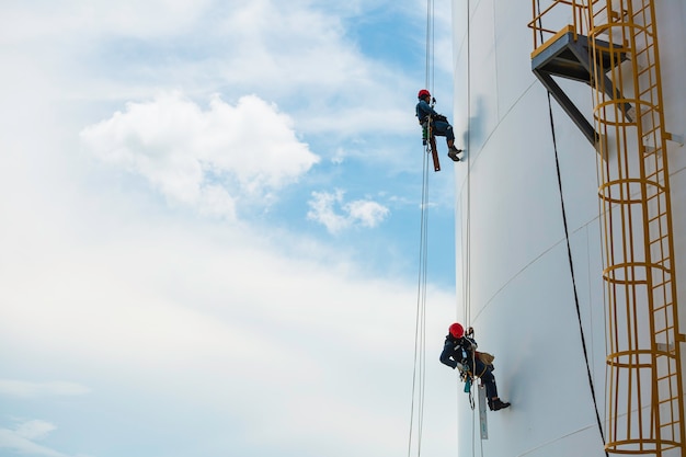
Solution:
M 672 251 L 664 262 L 671 272 L 670 282 L 674 284 L 668 290 L 674 290 L 676 297 L 670 292 L 665 294 L 678 311 L 677 321 L 670 324 L 674 331 L 670 335 L 666 330 L 664 334 L 659 330 L 656 334 L 645 332 L 648 325 L 643 318 L 650 313 L 639 310 L 631 315 L 631 310 L 625 308 L 627 304 L 638 308 L 648 305 L 640 296 L 627 298 L 627 289 L 621 288 L 624 284 L 619 293 L 613 293 L 613 286 L 621 281 L 607 271 L 604 274 L 611 264 L 608 252 L 615 255 L 613 249 L 632 241 L 618 243 L 618 238 L 624 237 L 617 228 L 621 205 L 615 201 L 604 202 L 598 196 L 605 173 L 603 167 L 609 163 L 613 168 L 621 161 L 615 150 L 618 144 L 637 151 L 638 144 L 642 142 L 647 151 L 653 150 L 654 145 L 651 146 L 645 136 L 636 141 L 616 138 L 619 130 L 614 128 L 614 123 L 613 128 L 603 130 L 605 124 L 598 121 L 603 114 L 594 111 L 599 95 L 587 83 L 554 78 L 586 121 L 603 130 L 595 145 L 554 98 L 550 113 L 548 91 L 531 71 L 531 53 L 553 33 L 542 39 L 537 37 L 535 42 L 537 32 L 529 23 L 537 8 L 546 10 L 552 5 L 558 8 L 551 13 L 554 18 L 545 20 L 556 30 L 562 30 L 561 24 L 573 25 L 573 2 L 567 2 L 570 3 L 567 11 L 562 10 L 564 4 L 557 3 L 561 2 L 453 1 L 456 145 L 466 150 L 466 160 L 455 165 L 457 296 L 460 302 L 456 316 L 475 328 L 476 340 L 484 351 L 494 353 L 500 396 L 512 402 L 506 410 L 488 412 L 488 438 L 483 438 L 478 408 L 472 411 L 468 396 L 461 396 L 458 401 L 459 455 L 601 457 L 605 456 L 603 439 L 606 443 L 622 439 L 622 429 L 629 429 L 629 441 L 640 435 L 647 445 L 640 450 L 634 443 L 627 447 L 616 444 L 608 449 L 610 454 L 622 450 L 625 455 L 682 455 L 683 447 L 678 446 L 686 439 L 683 425 L 650 425 L 651 411 L 644 403 L 645 392 L 652 391 L 650 380 L 645 381 L 642 374 L 633 378 L 632 368 L 629 374 L 621 368 L 617 373 L 606 359 L 608 354 L 624 347 L 621 342 L 614 346 L 611 329 L 631 319 L 637 320 L 632 328 L 639 334 L 625 336 L 636 338 L 638 346 L 651 347 L 651 341 L 665 341 L 664 345 L 654 343 L 653 350 L 659 347 L 673 353 L 673 346 L 681 345 L 681 354 L 684 353 L 679 339 L 686 329 L 686 148 L 683 145 L 686 135 L 686 32 L 683 25 L 686 7 L 681 0 L 603 0 L 594 7 L 598 11 L 601 3 L 609 5 L 606 14 L 609 11 L 613 16 L 618 12 L 618 21 L 622 20 L 621 11 L 627 7 L 639 9 L 648 4 L 654 8 L 651 10 L 654 16 L 649 21 L 659 33 L 652 39 L 656 49 L 659 45 L 661 78 L 658 82 L 662 105 L 658 108 L 663 115 L 660 135 L 665 137 L 664 141 L 658 141 L 664 145 L 659 158 L 666 158 L 670 183 L 666 192 L 671 199 L 671 227 L 662 230 L 668 231 Z M 597 25 L 602 19 L 595 21 Z M 608 31 L 609 35 L 613 33 Z M 608 39 L 613 38 L 608 36 Z M 617 36 L 614 39 L 626 42 Z M 641 59 L 640 55 L 638 58 L 634 55 L 633 62 L 640 68 Z M 618 65 L 624 75 L 621 88 L 625 93 L 639 96 L 636 94 L 640 92 L 636 90 L 639 80 L 630 78 L 631 66 L 629 60 Z M 620 78 L 619 73 L 614 78 Z M 639 112 L 644 110 L 639 108 Z M 614 175 L 606 179 L 611 181 Z M 630 187 L 630 193 L 640 192 Z M 629 219 L 640 227 L 641 217 Z M 636 227 L 630 229 L 632 235 L 643 233 Z M 637 276 L 642 274 L 631 271 Z M 637 282 L 643 284 L 645 278 L 639 279 Z M 651 290 L 648 295 L 658 295 Z M 619 322 L 613 323 L 613 319 Z M 640 347 L 637 351 L 640 352 Z M 616 359 L 618 364 L 625 361 L 619 356 Z M 632 359 L 631 354 L 626 359 Z M 632 361 L 643 363 L 642 355 Z M 683 361 L 679 362 L 686 368 Z M 674 386 L 674 379 L 683 382 L 683 378 L 672 376 L 667 381 L 671 384 L 667 390 L 678 392 L 681 398 L 672 398 L 656 409 L 683 408 L 683 388 Z M 631 379 L 634 385 L 630 385 Z M 637 387 L 640 382 L 644 386 Z M 655 388 L 664 389 L 664 386 L 658 382 Z M 634 398 L 641 395 L 642 402 Z M 616 409 L 615 397 L 620 397 L 619 403 L 624 402 L 620 407 L 629 413 Z M 653 396 L 655 398 L 659 396 Z M 627 425 L 630 416 L 641 414 L 642 425 L 636 420 Z M 683 411 L 663 411 L 663 420 L 665 414 L 684 422 Z M 658 438 L 654 429 L 661 429 Z M 681 445 L 674 447 L 663 441 Z

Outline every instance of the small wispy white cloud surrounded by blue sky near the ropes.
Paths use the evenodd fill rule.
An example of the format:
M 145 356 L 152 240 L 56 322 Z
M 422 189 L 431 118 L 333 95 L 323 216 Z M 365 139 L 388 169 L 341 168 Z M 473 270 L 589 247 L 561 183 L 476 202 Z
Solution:
M 307 218 L 325 226 L 331 233 L 338 233 L 353 226 L 374 228 L 390 213 L 384 205 L 369 199 L 344 204 L 344 194 L 341 190 L 334 193 L 312 192 Z M 340 213 L 336 213 L 336 207 L 340 207 Z

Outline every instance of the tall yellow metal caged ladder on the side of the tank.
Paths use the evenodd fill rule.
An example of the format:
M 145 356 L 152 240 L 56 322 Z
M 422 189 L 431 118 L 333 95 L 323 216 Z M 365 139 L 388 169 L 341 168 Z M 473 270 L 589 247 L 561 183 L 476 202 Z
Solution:
M 542 43 L 540 36 L 564 28 L 544 27 L 544 19 L 569 18 L 571 9 L 574 39 L 587 39 L 593 66 L 588 83 L 608 317 L 605 447 L 611 454 L 686 456 L 670 134 L 664 132 L 653 1 L 553 0 L 544 11 L 537 10 L 538 1 L 533 1 L 529 23 L 533 56 L 554 39 Z M 567 12 L 552 13 L 562 8 Z

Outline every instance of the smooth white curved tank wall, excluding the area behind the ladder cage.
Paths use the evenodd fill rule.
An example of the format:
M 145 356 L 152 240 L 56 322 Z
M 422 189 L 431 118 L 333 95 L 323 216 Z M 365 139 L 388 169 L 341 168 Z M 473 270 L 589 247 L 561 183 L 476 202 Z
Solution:
M 666 132 L 686 134 L 686 7 L 656 1 Z M 468 21 L 469 19 L 469 21 Z M 488 439 L 458 399 L 460 456 L 604 456 L 564 237 L 547 93 L 530 69 L 530 2 L 453 1 L 457 319 L 495 354 L 501 397 Z M 582 112 L 591 89 L 563 83 Z M 596 152 L 552 115 L 581 320 L 605 420 L 605 329 Z M 590 117 L 590 116 L 588 116 Z M 461 136 L 460 136 L 461 135 Z M 681 327 L 686 329 L 686 148 L 668 142 Z M 682 347 L 684 349 L 684 347 Z M 684 352 L 682 352 L 684 354 Z M 684 365 L 686 366 L 686 365 Z

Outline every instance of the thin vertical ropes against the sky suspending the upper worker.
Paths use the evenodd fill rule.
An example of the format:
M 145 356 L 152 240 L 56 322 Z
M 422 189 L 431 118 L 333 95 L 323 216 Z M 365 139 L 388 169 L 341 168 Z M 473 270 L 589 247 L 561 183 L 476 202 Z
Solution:
M 433 90 L 433 50 L 434 50 L 434 2 L 426 2 L 426 88 Z M 414 370 L 412 373 L 412 405 L 410 409 L 410 436 L 408 439 L 408 457 L 412 455 L 414 420 L 416 418 L 416 456 L 422 453 L 422 431 L 424 426 L 424 399 L 426 385 L 426 278 L 428 245 L 428 150 L 427 141 L 423 153 L 422 203 L 420 222 L 420 252 L 416 294 L 416 316 L 414 328 Z M 416 405 L 416 410 L 415 410 Z

